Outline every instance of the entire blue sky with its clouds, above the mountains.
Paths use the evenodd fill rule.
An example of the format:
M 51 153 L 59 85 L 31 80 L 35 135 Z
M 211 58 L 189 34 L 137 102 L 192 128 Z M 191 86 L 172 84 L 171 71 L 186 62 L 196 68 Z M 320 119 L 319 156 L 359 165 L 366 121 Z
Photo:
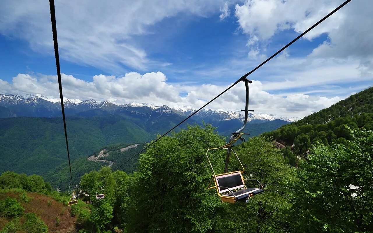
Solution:
M 56 1 L 64 93 L 200 107 L 342 2 Z M 253 73 L 253 107 L 303 117 L 372 86 L 372 6 L 351 1 Z M 0 93 L 58 95 L 48 10 L 0 3 Z M 243 99 L 238 85 L 210 107 Z

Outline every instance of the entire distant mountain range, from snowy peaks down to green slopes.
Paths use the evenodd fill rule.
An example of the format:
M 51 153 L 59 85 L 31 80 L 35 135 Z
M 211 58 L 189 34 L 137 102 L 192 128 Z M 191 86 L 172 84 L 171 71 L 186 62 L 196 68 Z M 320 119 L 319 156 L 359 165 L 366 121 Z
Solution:
M 109 101 L 64 100 L 72 160 L 88 158 L 110 144 L 139 144 L 167 132 L 196 109 L 190 106 Z M 66 161 L 61 106 L 45 95 L 0 95 L 0 173 L 12 170 L 46 175 Z M 220 135 L 230 136 L 242 126 L 241 111 L 203 109 L 180 125 L 211 123 Z M 250 114 L 250 136 L 278 129 L 295 119 Z

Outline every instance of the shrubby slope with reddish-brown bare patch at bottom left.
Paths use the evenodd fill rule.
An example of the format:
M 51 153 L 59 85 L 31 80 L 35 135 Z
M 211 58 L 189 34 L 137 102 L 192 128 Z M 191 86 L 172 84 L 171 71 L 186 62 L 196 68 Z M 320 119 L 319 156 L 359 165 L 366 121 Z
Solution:
M 76 218 L 67 200 L 40 176 L 5 172 L 0 176 L 0 232 L 71 232 Z

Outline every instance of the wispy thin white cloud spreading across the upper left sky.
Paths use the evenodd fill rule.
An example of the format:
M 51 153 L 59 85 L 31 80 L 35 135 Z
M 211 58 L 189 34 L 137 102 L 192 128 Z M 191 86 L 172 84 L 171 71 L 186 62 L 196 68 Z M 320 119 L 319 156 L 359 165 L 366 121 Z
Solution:
M 138 36 L 154 33 L 150 26 L 187 13 L 206 16 L 223 0 L 56 1 L 60 57 L 70 62 L 122 73 L 123 65 L 145 69 L 150 60 Z M 0 3 L 0 34 L 29 42 L 32 50 L 53 54 L 50 10 L 45 0 Z

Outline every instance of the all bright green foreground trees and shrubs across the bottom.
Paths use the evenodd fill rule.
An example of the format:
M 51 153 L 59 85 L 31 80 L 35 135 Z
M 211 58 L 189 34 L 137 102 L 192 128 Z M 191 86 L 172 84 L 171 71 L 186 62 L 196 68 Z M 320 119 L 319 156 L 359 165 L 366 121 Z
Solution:
M 230 204 L 207 189 L 212 172 L 206 150 L 223 145 L 225 138 L 211 125 L 189 126 L 142 153 L 133 173 L 102 167 L 84 174 L 81 185 L 90 196 L 70 208 L 75 229 L 80 233 L 372 232 L 373 132 L 343 127 L 348 141 L 312 146 L 307 162 L 301 161 L 298 168 L 289 165 L 267 137 L 236 146 L 245 174 L 260 180 L 265 191 L 248 203 Z M 211 155 L 216 172 L 223 171 L 224 159 L 224 151 Z M 229 170 L 238 169 L 238 161 L 232 159 Z M 69 198 L 52 192 L 36 175 L 3 173 L 0 188 L 3 193 L 9 189 L 43 193 L 65 205 Z M 96 199 L 97 192 L 104 192 L 105 198 Z M 22 222 L 30 218 L 11 206 L 1 205 L 2 213 L 14 212 L 2 217 L 2 232 L 15 232 L 7 229 L 17 221 L 16 227 L 25 227 Z

